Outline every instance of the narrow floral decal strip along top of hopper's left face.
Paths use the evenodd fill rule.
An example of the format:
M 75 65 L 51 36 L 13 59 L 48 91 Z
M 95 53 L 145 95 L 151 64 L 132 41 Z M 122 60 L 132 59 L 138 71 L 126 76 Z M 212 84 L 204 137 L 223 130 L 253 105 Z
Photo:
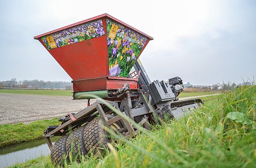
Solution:
M 50 50 L 104 35 L 105 32 L 102 20 L 100 19 L 58 31 L 56 33 L 42 37 L 41 39 L 43 40 L 48 50 Z

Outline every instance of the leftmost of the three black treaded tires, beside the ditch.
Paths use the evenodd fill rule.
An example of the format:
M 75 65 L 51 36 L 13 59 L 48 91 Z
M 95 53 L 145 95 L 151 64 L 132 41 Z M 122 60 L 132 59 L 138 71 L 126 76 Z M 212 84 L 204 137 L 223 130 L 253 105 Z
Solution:
M 65 135 L 54 143 L 51 151 L 51 160 L 53 165 L 62 166 L 64 164 L 67 138 L 68 135 Z

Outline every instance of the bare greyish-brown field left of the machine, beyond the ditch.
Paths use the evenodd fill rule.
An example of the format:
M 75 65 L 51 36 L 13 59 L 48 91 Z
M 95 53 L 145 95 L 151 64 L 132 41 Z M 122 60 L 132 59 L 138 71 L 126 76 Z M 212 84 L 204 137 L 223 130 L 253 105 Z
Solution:
M 87 100 L 72 100 L 72 97 L 1 93 L 0 125 L 65 116 L 86 106 Z

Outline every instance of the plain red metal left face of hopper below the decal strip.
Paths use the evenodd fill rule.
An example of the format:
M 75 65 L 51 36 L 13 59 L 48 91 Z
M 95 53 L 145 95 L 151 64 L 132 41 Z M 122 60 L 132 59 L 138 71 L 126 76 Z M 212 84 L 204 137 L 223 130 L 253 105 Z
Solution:
M 102 36 L 48 51 L 73 80 L 79 80 L 107 76 L 106 50 Z

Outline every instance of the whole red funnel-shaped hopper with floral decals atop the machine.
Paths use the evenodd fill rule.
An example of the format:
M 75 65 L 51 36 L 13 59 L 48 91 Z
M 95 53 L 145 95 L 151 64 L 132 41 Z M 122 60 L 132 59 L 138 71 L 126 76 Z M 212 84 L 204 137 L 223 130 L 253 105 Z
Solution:
M 102 14 L 38 36 L 73 79 L 74 92 L 118 89 L 137 79 L 128 78 L 135 61 L 153 38 L 115 17 Z

